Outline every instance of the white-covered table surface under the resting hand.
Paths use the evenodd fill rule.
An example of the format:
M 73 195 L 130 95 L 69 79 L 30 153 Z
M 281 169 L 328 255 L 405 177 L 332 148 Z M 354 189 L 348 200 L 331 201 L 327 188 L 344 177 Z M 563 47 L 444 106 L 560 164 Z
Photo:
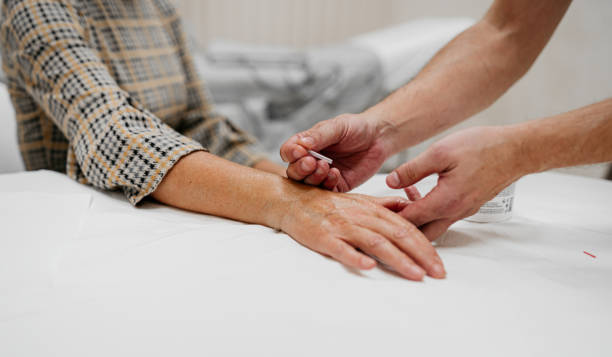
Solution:
M 523 178 L 421 283 L 48 171 L 0 175 L 0 224 L 0 356 L 612 356 L 608 181 Z

